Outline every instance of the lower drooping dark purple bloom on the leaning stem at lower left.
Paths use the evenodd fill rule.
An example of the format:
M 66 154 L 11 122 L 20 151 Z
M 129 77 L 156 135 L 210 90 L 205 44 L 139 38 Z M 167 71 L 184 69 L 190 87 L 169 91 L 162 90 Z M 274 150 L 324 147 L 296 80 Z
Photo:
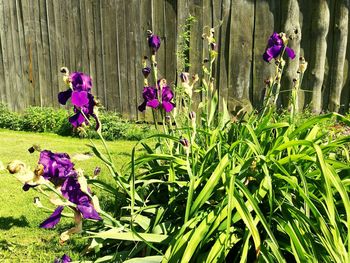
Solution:
M 83 218 L 101 220 L 89 196 L 81 190 L 78 178 L 67 178 L 61 187 L 61 193 L 63 197 L 77 205 L 77 209 L 83 215 Z

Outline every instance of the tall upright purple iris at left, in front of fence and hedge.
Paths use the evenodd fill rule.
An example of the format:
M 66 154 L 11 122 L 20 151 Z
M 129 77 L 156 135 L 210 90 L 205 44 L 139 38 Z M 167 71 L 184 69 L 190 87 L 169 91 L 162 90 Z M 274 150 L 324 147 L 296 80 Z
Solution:
M 87 122 L 84 115 L 89 118 L 94 117 L 95 100 L 94 96 L 91 94 L 92 81 L 89 75 L 85 75 L 82 72 L 74 72 L 69 76 L 72 88 L 66 91 L 58 93 L 58 101 L 62 105 L 66 105 L 69 98 L 74 105 L 75 114 L 69 118 L 69 122 L 74 127 L 80 127 L 83 123 Z M 96 121 L 97 125 L 99 124 Z M 96 127 L 96 130 L 99 127 Z

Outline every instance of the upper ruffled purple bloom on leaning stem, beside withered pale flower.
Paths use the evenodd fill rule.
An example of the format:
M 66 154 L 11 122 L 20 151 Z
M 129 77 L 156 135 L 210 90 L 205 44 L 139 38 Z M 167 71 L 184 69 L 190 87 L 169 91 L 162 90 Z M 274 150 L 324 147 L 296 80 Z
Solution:
M 66 178 L 76 176 L 74 164 L 66 153 L 53 153 L 44 150 L 40 153 L 39 164 L 43 166 L 42 176 L 53 184 L 59 185 Z

